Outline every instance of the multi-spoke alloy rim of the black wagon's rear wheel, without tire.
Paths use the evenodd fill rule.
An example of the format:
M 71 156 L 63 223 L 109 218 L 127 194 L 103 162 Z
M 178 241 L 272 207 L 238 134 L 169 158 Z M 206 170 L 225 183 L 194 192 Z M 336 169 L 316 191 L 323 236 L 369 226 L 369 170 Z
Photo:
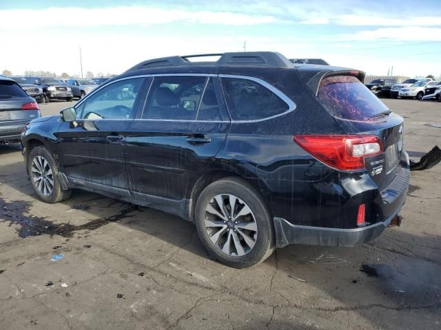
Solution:
M 205 230 L 218 250 L 230 256 L 250 252 L 257 239 L 252 210 L 234 195 L 216 195 L 205 207 Z

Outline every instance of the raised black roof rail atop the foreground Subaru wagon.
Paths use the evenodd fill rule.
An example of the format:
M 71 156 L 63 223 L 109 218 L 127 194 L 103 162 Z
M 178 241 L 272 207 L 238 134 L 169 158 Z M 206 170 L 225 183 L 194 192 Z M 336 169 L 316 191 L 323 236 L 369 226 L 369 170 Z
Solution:
M 292 67 L 292 63 L 278 52 L 230 52 L 216 54 L 196 54 L 185 56 L 170 56 L 162 58 L 153 58 L 151 60 L 138 63 L 131 67 L 127 72 L 147 69 L 150 67 L 164 66 L 185 66 L 185 65 L 201 65 L 201 62 L 192 62 L 188 58 L 220 56 L 218 61 L 202 62 L 204 65 L 218 66 L 258 66 L 258 67 Z

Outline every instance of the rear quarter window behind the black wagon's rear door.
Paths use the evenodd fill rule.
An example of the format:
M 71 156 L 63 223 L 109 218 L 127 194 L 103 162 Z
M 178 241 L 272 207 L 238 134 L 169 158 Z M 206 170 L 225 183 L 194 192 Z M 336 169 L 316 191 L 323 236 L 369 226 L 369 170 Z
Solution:
M 289 105 L 253 80 L 222 78 L 222 87 L 232 120 L 258 120 L 289 110 Z

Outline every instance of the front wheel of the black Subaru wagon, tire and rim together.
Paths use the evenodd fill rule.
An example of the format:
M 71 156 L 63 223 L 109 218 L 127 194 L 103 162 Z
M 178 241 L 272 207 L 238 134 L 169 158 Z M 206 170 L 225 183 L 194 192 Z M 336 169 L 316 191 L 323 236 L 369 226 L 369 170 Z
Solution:
M 44 146 L 37 146 L 28 157 L 28 174 L 38 197 L 46 203 L 68 199 L 72 190 L 63 190 L 59 180 L 59 167 Z

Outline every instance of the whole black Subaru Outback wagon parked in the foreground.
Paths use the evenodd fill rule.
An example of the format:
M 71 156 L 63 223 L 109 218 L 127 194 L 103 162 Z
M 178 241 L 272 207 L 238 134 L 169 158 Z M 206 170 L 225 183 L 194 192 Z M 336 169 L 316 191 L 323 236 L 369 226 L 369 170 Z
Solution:
M 32 186 L 72 188 L 196 224 L 233 267 L 289 243 L 351 246 L 398 219 L 409 186 L 403 119 L 365 74 L 274 52 L 139 63 L 23 132 Z

